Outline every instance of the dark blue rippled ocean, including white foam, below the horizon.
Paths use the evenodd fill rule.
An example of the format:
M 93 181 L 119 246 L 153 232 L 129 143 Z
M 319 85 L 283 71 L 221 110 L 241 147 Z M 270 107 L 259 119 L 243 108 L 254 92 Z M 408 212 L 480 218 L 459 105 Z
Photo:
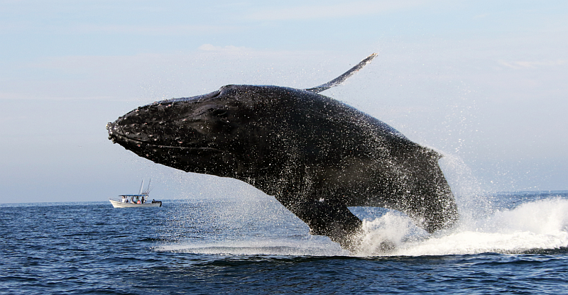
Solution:
M 459 202 L 459 225 L 435 235 L 351 208 L 354 253 L 263 194 L 3 204 L 0 294 L 568 294 L 568 191 Z

